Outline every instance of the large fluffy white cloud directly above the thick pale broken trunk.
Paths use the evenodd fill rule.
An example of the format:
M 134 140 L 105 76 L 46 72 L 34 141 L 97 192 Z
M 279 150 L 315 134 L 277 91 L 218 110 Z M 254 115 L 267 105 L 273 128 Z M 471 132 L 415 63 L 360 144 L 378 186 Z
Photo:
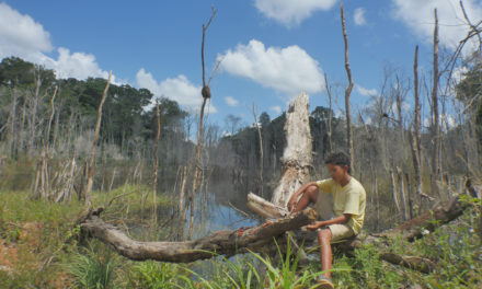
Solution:
M 218 55 L 220 59 L 223 71 L 251 79 L 289 97 L 296 96 L 301 90 L 308 93 L 324 90 L 318 61 L 297 45 L 266 49 L 263 43 L 252 39 L 248 45 L 238 45 L 234 50 Z

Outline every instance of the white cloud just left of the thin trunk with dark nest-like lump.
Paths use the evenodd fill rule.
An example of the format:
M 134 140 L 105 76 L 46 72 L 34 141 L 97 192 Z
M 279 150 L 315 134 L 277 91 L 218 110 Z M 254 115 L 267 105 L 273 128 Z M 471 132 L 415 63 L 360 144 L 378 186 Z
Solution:
M 176 101 L 185 109 L 195 112 L 200 108 L 203 102 L 203 96 L 200 95 L 202 86 L 193 84 L 183 74 L 158 82 L 150 72 L 146 72 L 141 68 L 136 74 L 136 82 L 140 88 L 150 90 L 157 97 L 164 96 Z M 208 109 L 209 113 L 217 113 L 216 107 L 213 105 Z

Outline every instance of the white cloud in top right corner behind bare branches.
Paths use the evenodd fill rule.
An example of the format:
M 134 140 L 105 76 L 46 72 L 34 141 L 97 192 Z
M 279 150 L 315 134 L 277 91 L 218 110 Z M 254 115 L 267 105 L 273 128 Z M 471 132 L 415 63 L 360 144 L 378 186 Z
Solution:
M 394 16 L 405 23 L 422 41 L 432 43 L 434 34 L 434 9 L 437 9 L 440 44 L 451 49 L 467 36 L 467 25 L 459 1 L 455 0 L 392 0 Z M 472 23 L 482 20 L 482 3 L 464 0 L 466 12 Z M 475 39 L 469 45 L 475 48 Z M 464 49 L 466 53 L 470 51 Z

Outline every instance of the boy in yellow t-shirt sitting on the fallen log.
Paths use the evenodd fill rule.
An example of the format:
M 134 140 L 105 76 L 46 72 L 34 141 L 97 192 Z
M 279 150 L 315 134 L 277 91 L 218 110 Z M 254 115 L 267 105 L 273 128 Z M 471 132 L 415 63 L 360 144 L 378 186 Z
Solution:
M 331 178 L 301 186 L 290 197 L 288 210 L 291 213 L 298 212 L 312 203 L 319 216 L 324 219 L 307 226 L 307 229 L 318 232 L 321 245 L 321 269 L 325 274 L 320 276 L 318 288 L 334 288 L 330 271 L 332 267 L 331 242 L 358 234 L 364 224 L 366 193 L 362 184 L 349 175 L 349 159 L 345 153 L 331 153 L 324 163 Z M 324 194 L 332 195 L 332 208 Z M 334 216 L 329 216 L 331 209 Z

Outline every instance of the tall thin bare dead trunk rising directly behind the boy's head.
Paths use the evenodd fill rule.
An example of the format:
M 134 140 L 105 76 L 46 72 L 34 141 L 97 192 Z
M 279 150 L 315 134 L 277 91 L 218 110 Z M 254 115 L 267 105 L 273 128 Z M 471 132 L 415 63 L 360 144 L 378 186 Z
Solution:
M 342 15 L 342 28 L 343 28 L 343 41 L 345 42 L 345 70 L 346 76 L 348 78 L 348 86 L 345 90 L 345 113 L 346 113 L 346 142 L 349 151 L 349 167 L 352 169 L 352 174 L 355 173 L 354 167 L 354 159 L 355 151 L 353 149 L 353 131 L 352 131 L 352 116 L 349 114 L 349 94 L 353 90 L 353 79 L 352 79 L 352 69 L 349 68 L 349 59 L 348 59 L 348 35 L 346 33 L 346 23 L 345 23 L 345 11 L 343 9 L 343 3 L 340 4 L 340 11 Z

